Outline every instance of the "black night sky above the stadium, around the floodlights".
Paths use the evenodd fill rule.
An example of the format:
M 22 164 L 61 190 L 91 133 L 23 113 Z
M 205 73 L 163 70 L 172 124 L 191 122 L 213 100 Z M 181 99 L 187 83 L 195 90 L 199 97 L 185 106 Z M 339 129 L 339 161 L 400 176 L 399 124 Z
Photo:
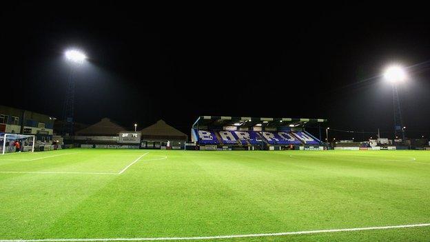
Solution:
M 1 104 L 61 118 L 70 68 L 63 52 L 75 47 L 90 58 L 74 76 L 81 123 L 109 117 L 132 129 L 164 119 L 188 133 L 199 115 L 309 117 L 386 137 L 391 86 L 378 75 L 400 63 L 415 65 L 400 87 L 409 136 L 430 135 L 427 14 L 295 6 L 243 17 L 233 10 L 227 19 L 222 11 L 61 4 L 1 8 Z

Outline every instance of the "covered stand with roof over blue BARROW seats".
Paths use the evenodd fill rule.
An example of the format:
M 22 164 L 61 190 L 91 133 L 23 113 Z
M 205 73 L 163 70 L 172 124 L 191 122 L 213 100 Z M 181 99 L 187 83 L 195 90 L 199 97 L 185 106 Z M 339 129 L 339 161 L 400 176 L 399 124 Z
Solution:
M 192 127 L 198 145 L 281 146 L 322 145 L 305 131 L 307 123 L 326 119 L 273 119 L 249 117 L 199 117 Z

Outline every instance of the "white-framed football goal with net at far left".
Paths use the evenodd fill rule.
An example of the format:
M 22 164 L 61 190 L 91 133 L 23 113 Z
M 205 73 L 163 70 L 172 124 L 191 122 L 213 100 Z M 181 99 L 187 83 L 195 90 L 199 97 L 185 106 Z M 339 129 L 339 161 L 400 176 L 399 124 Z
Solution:
M 34 135 L 0 134 L 0 154 L 34 152 Z

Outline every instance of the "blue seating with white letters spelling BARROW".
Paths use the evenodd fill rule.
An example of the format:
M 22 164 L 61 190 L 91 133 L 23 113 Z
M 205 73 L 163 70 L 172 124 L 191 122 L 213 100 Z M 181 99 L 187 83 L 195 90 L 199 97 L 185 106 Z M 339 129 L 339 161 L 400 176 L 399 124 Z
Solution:
M 216 144 L 242 144 L 242 145 L 260 145 L 261 140 L 270 145 L 298 145 L 310 144 L 318 145 L 320 141 L 303 131 L 279 131 L 279 132 L 256 132 L 253 130 L 196 130 L 198 131 L 198 141 L 205 145 Z M 219 137 L 219 141 L 218 138 Z M 220 141 L 222 143 L 220 143 Z

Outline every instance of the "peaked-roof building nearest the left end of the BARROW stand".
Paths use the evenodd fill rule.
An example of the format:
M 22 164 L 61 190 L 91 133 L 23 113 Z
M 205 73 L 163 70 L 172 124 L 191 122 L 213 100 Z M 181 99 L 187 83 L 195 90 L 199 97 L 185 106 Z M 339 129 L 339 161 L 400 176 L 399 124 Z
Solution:
M 153 125 L 141 130 L 141 135 L 141 147 L 149 149 L 165 147 L 179 149 L 188 141 L 187 134 L 176 130 L 163 120 L 158 120 Z

